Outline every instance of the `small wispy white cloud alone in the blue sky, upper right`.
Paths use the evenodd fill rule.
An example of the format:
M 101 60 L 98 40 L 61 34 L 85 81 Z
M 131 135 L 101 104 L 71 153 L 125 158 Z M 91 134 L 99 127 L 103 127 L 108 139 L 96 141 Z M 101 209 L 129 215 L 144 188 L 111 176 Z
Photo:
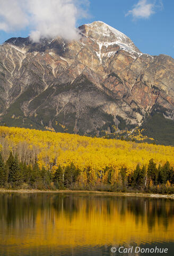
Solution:
M 156 8 L 162 8 L 162 0 L 159 1 L 159 4 L 156 4 L 156 1 L 147 2 L 147 0 L 139 0 L 136 5 L 133 6 L 133 9 L 128 11 L 127 15 L 132 15 L 133 18 L 144 18 L 148 19 L 152 14 L 155 13 Z

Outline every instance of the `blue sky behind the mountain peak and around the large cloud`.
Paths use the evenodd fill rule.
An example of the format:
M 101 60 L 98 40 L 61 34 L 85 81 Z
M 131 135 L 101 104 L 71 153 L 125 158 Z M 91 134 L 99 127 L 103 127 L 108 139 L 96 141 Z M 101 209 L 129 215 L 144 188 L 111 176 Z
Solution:
M 0 0 L 0 6 L 3 1 Z M 9 1 L 12 0 L 7 0 Z M 37 1 L 39 2 L 35 0 Z M 74 3 L 76 1 L 78 0 L 72 0 Z M 9 12 L 9 8 L 3 7 L 4 12 Z M 85 6 L 81 7 L 85 13 L 81 18 L 75 17 L 75 19 L 76 14 L 71 13 L 69 19 L 72 20 L 72 24 L 75 22 L 76 26 L 80 26 L 83 23 L 101 20 L 130 37 L 142 52 L 152 55 L 167 54 L 174 58 L 173 0 L 86 0 Z M 36 13 L 36 10 L 33 12 Z M 6 32 L 3 31 L 2 20 L 8 18 L 4 18 L 3 15 L 2 10 L 0 11 L 0 43 L 10 37 L 27 37 L 31 33 L 33 27 L 31 28 L 30 23 L 27 22 L 23 28 L 19 25 L 11 28 L 8 22 L 9 28 L 4 29 Z

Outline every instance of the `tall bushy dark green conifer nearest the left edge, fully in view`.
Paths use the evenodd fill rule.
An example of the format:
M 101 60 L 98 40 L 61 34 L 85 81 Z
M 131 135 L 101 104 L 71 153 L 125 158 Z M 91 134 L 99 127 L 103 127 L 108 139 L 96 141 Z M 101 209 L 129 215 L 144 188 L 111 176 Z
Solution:
M 19 186 L 22 182 L 22 175 L 18 161 L 18 156 L 15 155 L 15 157 L 13 157 L 11 153 L 8 157 L 7 165 L 9 168 L 8 183 L 11 183 L 13 187 Z

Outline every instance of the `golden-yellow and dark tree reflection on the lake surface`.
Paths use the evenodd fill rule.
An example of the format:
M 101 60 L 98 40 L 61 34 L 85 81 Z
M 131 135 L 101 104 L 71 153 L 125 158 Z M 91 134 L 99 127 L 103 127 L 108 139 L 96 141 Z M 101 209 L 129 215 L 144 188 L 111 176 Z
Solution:
M 13 220 L 0 216 L 1 244 L 26 248 L 174 241 L 173 201 L 60 195 L 18 201 L 13 198 L 13 205 L 22 210 Z

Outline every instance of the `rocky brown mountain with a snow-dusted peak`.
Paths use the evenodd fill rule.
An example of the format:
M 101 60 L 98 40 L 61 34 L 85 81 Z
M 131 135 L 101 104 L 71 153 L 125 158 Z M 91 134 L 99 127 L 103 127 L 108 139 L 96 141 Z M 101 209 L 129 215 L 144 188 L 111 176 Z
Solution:
M 115 137 L 141 131 L 174 145 L 174 60 L 142 53 L 101 21 L 79 34 L 0 46 L 0 124 Z

